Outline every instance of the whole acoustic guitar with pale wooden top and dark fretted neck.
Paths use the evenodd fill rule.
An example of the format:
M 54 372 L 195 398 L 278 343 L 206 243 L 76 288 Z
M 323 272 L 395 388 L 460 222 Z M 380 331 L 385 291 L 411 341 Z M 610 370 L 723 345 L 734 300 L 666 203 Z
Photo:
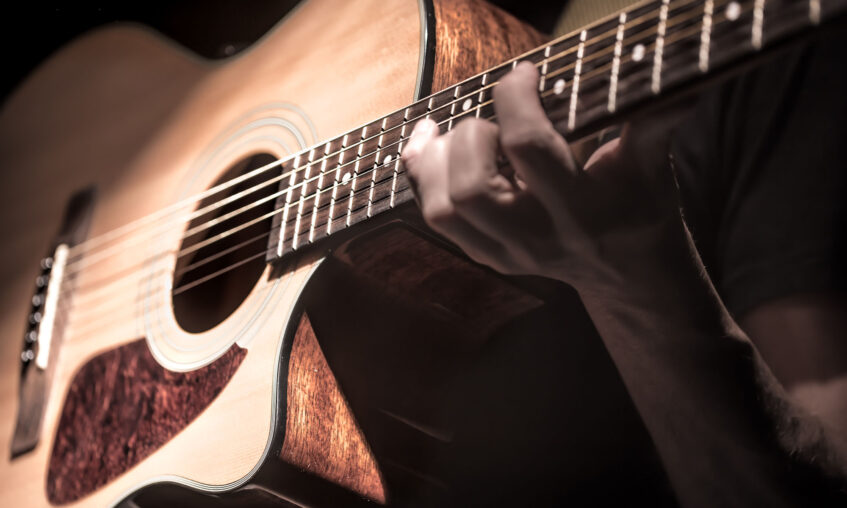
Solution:
M 592 330 L 421 225 L 414 123 L 496 120 L 528 60 L 576 141 L 845 7 L 648 0 L 548 41 L 479 0 L 309 0 L 222 62 L 75 40 L 0 112 L 0 506 L 447 504 L 454 403 L 509 397 L 453 397 L 492 337 L 551 301 Z

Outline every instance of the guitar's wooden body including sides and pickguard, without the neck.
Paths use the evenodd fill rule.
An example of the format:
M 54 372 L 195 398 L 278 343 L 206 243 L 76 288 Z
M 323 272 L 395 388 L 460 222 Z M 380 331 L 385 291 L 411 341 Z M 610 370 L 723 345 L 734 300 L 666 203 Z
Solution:
M 433 81 L 446 85 L 539 42 L 477 2 L 427 9 L 429 2 L 412 0 L 310 0 L 254 47 L 220 63 L 140 27 L 104 28 L 61 50 L 9 98 L 0 114 L 0 232 L 6 239 L 0 250 L 0 505 L 100 507 L 132 499 L 143 505 L 144 496 L 155 505 L 168 489 L 182 502 L 205 506 L 402 499 L 387 488 L 396 475 L 374 455 L 389 445 L 374 445 L 368 430 L 396 437 L 417 429 L 408 432 L 449 441 L 433 430 L 439 411 L 417 402 L 436 400 L 433 380 L 443 381 L 457 358 L 478 349 L 493 325 L 537 306 L 535 297 L 401 225 L 401 214 L 372 233 L 374 239 L 352 240 L 329 258 L 325 249 L 314 249 L 277 267 L 260 259 L 258 270 L 238 272 L 243 277 L 213 291 L 199 285 L 181 300 L 173 292 L 182 284 L 175 276 L 180 263 L 197 261 L 178 256 L 190 246 L 183 236 L 197 208 L 181 208 L 182 200 L 233 171 L 402 108 Z M 438 16 L 437 43 L 427 15 Z M 479 33 L 493 37 L 503 26 L 515 30 L 491 41 L 502 50 L 475 57 Z M 86 187 L 96 188 L 88 238 L 168 207 L 179 213 L 121 236 L 107 246 L 109 255 L 73 265 L 72 299 L 55 325 L 61 334 L 54 337 L 48 389 L 41 392 L 38 438 L 34 447 L 15 450 L 33 280 L 65 204 Z M 267 248 L 266 240 L 257 245 Z M 369 265 L 368 249 L 395 260 L 393 275 Z M 429 259 L 429 271 L 411 268 L 412 255 Z M 484 300 L 485 291 L 433 291 L 427 289 L 432 279 L 422 281 L 421 273 L 466 277 L 491 301 L 502 297 L 517 305 L 492 323 L 486 313 L 496 305 L 467 303 L 469 294 Z M 379 280 L 406 288 L 418 303 L 373 296 Z M 315 303 L 322 292 L 335 296 Z M 376 300 L 363 295 L 397 307 L 381 334 L 339 324 L 378 316 L 358 313 L 363 306 L 375 309 Z M 321 328 L 329 338 L 318 345 Z M 386 350 L 398 333 L 408 343 Z M 343 335 L 347 346 L 339 345 Z M 355 356 L 350 344 L 357 337 L 360 353 L 387 362 L 373 367 L 382 377 L 362 381 L 355 374 L 362 363 L 344 366 L 345 357 Z M 424 338 L 430 341 L 418 340 Z M 328 349 L 333 340 L 334 353 Z M 434 344 L 450 354 L 433 352 Z M 419 350 L 428 352 L 425 358 Z M 410 366 L 418 377 L 404 377 Z M 425 394 L 398 395 L 412 385 Z M 372 413 L 393 423 L 374 423 L 379 419 L 358 410 L 374 398 Z M 394 424 L 407 430 L 392 431 Z

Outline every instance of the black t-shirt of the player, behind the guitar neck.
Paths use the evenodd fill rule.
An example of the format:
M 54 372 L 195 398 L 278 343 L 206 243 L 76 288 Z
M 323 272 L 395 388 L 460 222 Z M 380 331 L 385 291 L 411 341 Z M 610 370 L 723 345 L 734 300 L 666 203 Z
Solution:
M 847 34 L 830 34 L 706 92 L 673 140 L 683 211 L 740 316 L 845 288 Z

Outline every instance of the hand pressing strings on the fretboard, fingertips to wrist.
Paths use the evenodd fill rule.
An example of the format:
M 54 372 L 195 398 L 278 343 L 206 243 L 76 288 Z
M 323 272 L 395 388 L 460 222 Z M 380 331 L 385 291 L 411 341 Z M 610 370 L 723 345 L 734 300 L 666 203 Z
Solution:
M 626 126 L 581 170 L 537 89 L 535 66 L 522 63 L 494 89 L 499 126 L 415 126 L 402 156 L 427 223 L 480 263 L 581 292 L 660 269 L 664 249 L 687 244 L 663 125 Z

